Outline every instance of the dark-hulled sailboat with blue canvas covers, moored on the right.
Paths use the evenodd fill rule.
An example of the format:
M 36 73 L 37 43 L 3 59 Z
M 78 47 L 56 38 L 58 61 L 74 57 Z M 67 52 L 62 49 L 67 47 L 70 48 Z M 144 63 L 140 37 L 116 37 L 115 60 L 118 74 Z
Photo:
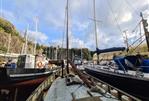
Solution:
M 142 14 L 141 17 L 148 45 L 149 32 L 146 28 L 147 21 L 143 18 Z M 125 50 L 125 48 L 110 48 L 104 50 L 99 50 L 97 48 L 97 54 L 123 50 Z M 114 57 L 114 61 L 116 64 L 114 63 L 113 65 L 86 66 L 85 71 L 89 75 L 123 90 L 130 95 L 133 95 L 143 101 L 148 101 L 149 60 L 142 59 L 140 55 L 129 55 L 125 57 L 116 56 Z

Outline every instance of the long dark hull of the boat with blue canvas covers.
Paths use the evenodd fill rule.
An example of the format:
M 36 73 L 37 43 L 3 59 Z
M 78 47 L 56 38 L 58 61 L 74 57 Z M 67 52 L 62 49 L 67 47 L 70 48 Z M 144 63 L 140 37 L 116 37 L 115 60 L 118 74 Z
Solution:
M 142 99 L 143 101 L 149 101 L 149 79 L 95 68 L 85 68 L 85 71 L 130 95 Z

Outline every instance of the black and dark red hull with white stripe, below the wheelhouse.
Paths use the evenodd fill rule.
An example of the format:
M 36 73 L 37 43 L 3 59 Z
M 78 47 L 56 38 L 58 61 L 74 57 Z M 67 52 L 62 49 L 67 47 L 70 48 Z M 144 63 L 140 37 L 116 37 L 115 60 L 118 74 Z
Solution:
M 51 74 L 45 69 L 0 69 L 0 101 L 14 101 L 15 96 L 16 101 L 26 101 Z

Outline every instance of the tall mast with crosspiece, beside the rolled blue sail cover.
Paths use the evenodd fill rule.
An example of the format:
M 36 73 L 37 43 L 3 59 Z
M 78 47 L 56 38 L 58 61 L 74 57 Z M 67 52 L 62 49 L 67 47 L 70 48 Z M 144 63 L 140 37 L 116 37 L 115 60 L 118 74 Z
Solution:
M 95 38 L 96 38 L 96 50 L 98 49 L 98 37 L 97 37 L 97 25 L 96 25 L 96 5 L 95 0 L 93 0 L 94 7 L 94 28 L 95 28 Z M 99 56 L 97 54 L 97 64 L 99 64 Z

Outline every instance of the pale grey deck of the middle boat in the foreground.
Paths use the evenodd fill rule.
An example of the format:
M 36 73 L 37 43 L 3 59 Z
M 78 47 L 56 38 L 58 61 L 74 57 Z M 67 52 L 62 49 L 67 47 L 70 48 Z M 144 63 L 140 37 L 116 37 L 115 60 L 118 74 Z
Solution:
M 73 77 L 74 78 L 74 77 Z M 80 79 L 75 76 L 77 81 Z M 82 82 L 82 81 L 80 81 Z M 66 85 L 66 78 L 57 78 L 45 96 L 44 101 L 118 101 L 106 93 L 91 92 L 84 84 Z

